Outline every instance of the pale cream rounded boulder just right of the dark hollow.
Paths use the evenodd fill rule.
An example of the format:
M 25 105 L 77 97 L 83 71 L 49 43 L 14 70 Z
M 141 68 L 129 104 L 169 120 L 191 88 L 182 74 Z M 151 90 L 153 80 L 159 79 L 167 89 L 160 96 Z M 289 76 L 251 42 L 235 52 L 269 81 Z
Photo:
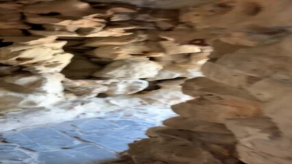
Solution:
M 114 79 L 143 79 L 155 77 L 161 69 L 160 64 L 147 59 L 117 60 L 95 72 L 93 76 Z

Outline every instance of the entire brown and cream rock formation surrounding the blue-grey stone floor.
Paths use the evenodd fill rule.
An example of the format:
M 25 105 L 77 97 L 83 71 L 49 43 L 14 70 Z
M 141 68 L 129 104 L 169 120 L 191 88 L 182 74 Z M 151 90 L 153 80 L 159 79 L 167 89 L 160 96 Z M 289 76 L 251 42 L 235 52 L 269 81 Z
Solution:
M 134 163 L 292 163 L 290 0 L 104 2 L 0 1 L 0 131 L 97 96 L 172 105 L 183 83 L 195 99 L 130 143 Z

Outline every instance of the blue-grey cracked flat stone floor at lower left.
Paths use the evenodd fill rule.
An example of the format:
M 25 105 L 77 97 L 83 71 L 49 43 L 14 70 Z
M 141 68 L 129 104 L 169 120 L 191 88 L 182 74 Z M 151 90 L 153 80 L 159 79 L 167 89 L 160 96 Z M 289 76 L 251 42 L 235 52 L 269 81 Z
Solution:
M 106 163 L 153 122 L 92 118 L 1 133 L 0 163 Z M 3 142 L 2 142 L 3 141 Z M 9 142 L 9 143 L 5 143 Z

